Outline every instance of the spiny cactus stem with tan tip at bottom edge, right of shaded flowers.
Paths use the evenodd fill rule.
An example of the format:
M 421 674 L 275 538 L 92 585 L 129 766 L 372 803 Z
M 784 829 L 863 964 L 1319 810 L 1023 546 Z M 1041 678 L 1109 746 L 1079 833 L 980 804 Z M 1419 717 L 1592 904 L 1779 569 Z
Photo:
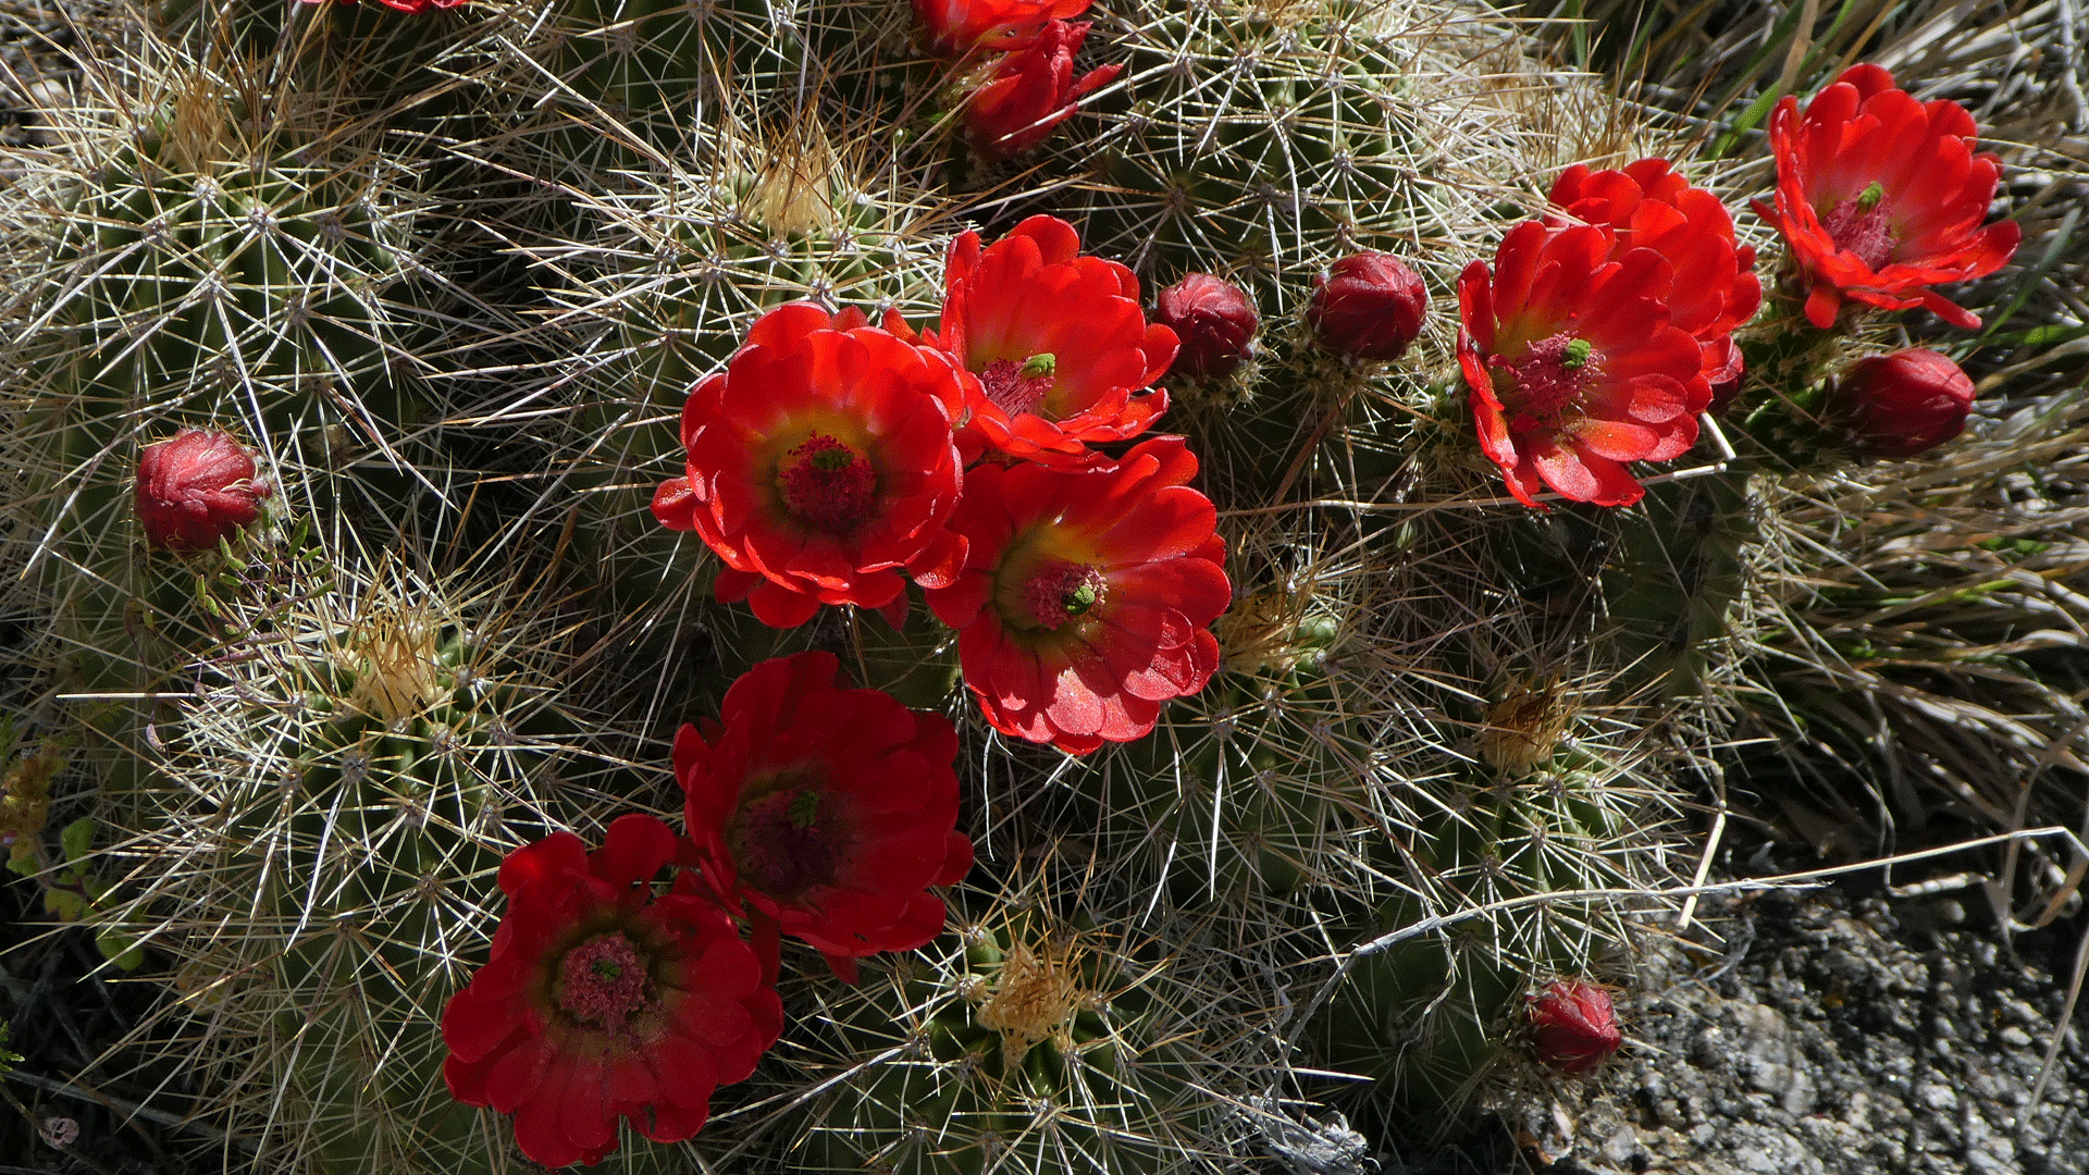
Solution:
M 1036 909 L 957 937 L 823 997 L 806 1029 L 846 1077 L 813 1102 L 800 1169 L 1149 1173 L 1210 1148 L 1166 960 Z

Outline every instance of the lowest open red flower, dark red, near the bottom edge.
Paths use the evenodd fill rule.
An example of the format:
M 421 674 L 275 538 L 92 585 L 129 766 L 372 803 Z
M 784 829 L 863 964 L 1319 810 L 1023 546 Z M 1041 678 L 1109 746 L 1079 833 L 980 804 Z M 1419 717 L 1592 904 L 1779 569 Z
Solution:
M 600 1162 L 618 1116 L 656 1142 L 691 1137 L 710 1091 L 783 1031 L 760 960 L 696 878 L 656 897 L 677 847 L 666 824 L 623 815 L 593 853 L 554 832 L 501 861 L 508 914 L 443 1010 L 443 1079 L 514 1114 L 535 1162 Z

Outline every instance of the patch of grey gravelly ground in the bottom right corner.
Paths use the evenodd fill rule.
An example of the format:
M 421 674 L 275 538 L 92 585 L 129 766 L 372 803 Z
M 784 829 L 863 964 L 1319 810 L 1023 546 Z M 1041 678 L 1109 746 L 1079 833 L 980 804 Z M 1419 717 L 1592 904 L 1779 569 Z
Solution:
M 1494 1169 L 2089 1171 L 2089 1012 L 2076 1010 L 2026 1110 L 2083 920 L 2020 937 L 2012 953 L 1995 930 L 1964 926 L 1966 909 L 1838 889 L 1713 903 L 1703 916 L 1728 953 L 1654 949 L 1619 1006 L 1627 1052 L 1590 1081 L 1519 1098 L 1504 1125 L 1523 1154 Z M 1469 1160 L 1485 1154 L 1477 1142 Z

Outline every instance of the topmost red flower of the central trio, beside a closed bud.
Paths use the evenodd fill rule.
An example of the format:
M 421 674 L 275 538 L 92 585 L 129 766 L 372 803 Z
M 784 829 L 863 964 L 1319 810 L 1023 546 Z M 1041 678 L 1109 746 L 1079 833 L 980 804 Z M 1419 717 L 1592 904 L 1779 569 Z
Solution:
M 982 395 L 959 429 L 967 460 L 982 450 L 1042 464 L 1084 464 L 1088 445 L 1145 433 L 1168 410 L 1149 387 L 1174 362 L 1176 337 L 1147 326 L 1139 278 L 1080 255 L 1074 226 L 1034 215 L 994 245 L 950 243 L 942 337 L 923 330 L 980 376 Z

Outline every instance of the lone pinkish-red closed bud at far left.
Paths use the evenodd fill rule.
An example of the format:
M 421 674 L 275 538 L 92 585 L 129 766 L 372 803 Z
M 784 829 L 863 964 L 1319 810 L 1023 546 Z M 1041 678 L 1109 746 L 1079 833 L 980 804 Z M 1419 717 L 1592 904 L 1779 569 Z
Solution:
M 211 550 L 261 516 L 267 496 L 253 456 L 226 433 L 182 429 L 138 454 L 138 521 L 157 548 Z

